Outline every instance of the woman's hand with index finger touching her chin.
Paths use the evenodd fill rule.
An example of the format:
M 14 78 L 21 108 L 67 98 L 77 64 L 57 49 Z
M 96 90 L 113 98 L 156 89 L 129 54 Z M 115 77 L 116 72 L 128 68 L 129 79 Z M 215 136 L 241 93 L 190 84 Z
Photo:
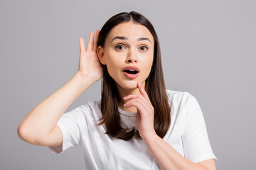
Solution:
M 137 108 L 137 120 L 136 125 L 139 130 L 139 135 L 142 139 L 156 135 L 154 130 L 154 107 L 151 105 L 149 96 L 142 87 L 142 84 L 138 82 L 138 88 L 140 94 L 132 94 L 124 97 L 127 103 L 124 107 L 134 106 Z

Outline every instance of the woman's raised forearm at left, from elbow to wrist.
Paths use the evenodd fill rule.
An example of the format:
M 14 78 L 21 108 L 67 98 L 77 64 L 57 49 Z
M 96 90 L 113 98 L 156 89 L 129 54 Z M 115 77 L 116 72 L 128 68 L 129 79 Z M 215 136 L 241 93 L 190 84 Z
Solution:
M 25 132 L 31 138 L 50 134 L 60 116 L 91 84 L 89 79 L 82 79 L 75 74 L 64 86 L 48 96 L 26 115 L 18 125 L 18 133 Z

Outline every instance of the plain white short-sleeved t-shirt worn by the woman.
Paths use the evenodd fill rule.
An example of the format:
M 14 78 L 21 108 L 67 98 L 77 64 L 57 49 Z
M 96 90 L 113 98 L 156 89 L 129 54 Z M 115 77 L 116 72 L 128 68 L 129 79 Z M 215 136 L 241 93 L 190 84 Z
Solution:
M 163 140 L 186 159 L 201 162 L 217 159 L 208 140 L 206 123 L 198 101 L 188 92 L 166 90 L 171 107 L 171 126 Z M 122 127 L 136 128 L 137 113 L 119 108 Z M 105 134 L 105 126 L 96 126 L 100 101 L 89 101 L 63 113 L 57 125 L 63 132 L 63 147 L 49 147 L 59 154 L 80 145 L 86 169 L 161 169 L 143 140 L 124 141 Z

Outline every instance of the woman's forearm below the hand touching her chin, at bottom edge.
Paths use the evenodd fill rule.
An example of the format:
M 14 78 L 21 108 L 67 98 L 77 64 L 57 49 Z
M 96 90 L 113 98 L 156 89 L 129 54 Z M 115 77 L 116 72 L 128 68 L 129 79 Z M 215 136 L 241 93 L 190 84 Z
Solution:
M 149 147 L 151 154 L 156 162 L 158 162 L 161 169 L 167 170 L 206 170 L 200 164 L 191 162 L 190 160 L 179 154 L 169 143 L 161 139 L 158 135 L 152 135 L 144 139 L 146 145 Z

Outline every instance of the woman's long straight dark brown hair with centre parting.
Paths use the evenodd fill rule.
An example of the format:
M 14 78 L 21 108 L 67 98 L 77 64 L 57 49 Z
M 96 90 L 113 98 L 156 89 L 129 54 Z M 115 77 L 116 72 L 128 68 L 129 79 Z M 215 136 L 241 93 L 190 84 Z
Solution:
M 166 94 L 166 86 L 164 84 L 164 74 L 161 65 L 161 52 L 159 46 L 159 39 L 156 35 L 154 27 L 151 25 L 142 14 L 137 12 L 123 12 L 112 16 L 102 29 L 100 30 L 98 46 L 104 47 L 105 39 L 110 33 L 110 30 L 119 23 L 132 21 L 145 26 L 154 37 L 154 60 L 149 77 L 146 79 L 145 90 L 149 96 L 152 106 L 154 107 L 154 130 L 159 137 L 163 138 L 171 124 L 171 106 L 169 106 L 168 96 Z M 120 125 L 120 116 L 118 111 L 118 103 L 120 96 L 117 91 L 117 86 L 114 79 L 110 77 L 107 72 L 107 67 L 102 64 L 103 78 L 102 78 L 102 98 L 100 109 L 102 111 L 102 118 L 100 123 L 105 123 L 106 134 L 112 137 L 117 137 L 122 140 L 130 140 L 132 137 L 142 139 L 139 132 L 135 128 L 122 128 Z

